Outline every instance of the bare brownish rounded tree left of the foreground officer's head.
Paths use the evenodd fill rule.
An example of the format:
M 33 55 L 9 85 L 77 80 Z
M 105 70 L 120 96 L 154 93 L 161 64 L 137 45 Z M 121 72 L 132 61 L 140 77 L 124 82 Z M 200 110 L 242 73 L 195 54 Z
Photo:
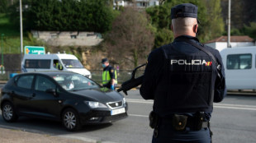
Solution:
M 138 12 L 132 7 L 125 7 L 116 17 L 104 39 L 107 57 L 115 58 L 126 67 L 129 64 L 137 67 L 140 60 L 145 62 L 154 45 L 154 35 L 149 30 L 145 12 Z

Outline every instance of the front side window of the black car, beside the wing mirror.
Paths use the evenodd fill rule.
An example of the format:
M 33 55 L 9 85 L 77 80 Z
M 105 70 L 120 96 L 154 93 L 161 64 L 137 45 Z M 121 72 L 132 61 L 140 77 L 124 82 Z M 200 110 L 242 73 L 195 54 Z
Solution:
M 48 89 L 56 89 L 55 83 L 45 76 L 36 76 L 35 90 L 45 91 Z

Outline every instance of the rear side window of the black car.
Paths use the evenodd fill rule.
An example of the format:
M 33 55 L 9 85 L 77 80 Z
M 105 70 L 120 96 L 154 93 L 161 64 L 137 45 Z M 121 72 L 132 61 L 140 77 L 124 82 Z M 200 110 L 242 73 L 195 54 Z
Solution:
M 20 78 L 17 79 L 17 86 L 25 89 L 31 89 L 33 79 L 33 75 L 20 76 Z

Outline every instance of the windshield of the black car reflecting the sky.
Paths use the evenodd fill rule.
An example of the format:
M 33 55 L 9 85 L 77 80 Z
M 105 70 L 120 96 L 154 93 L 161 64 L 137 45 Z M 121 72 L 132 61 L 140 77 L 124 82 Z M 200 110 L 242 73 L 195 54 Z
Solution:
M 52 78 L 55 79 L 64 90 L 75 91 L 99 88 L 97 83 L 80 74 L 56 74 L 52 75 Z

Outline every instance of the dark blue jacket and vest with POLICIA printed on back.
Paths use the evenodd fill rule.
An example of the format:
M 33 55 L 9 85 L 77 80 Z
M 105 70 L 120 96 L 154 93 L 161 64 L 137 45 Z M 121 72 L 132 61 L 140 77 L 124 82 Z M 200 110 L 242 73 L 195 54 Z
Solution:
M 210 120 L 212 103 L 220 102 L 226 93 L 220 53 L 204 45 L 221 65 L 220 76 L 217 76 L 211 56 L 183 39 L 202 45 L 197 38 L 186 35 L 152 51 L 140 95 L 144 99 L 154 99 L 154 111 L 160 117 L 201 111 L 208 113 L 206 118 Z

